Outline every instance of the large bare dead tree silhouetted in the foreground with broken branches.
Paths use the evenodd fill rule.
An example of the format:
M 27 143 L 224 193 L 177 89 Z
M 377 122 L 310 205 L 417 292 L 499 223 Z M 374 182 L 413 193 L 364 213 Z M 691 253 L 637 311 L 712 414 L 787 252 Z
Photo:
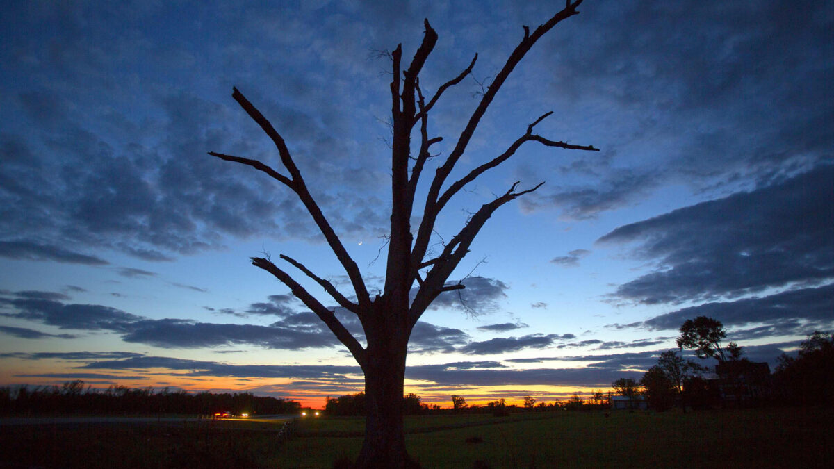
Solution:
M 455 165 L 466 153 L 480 120 L 515 66 L 525 57 L 530 48 L 557 23 L 579 13 L 576 8 L 580 3 L 582 0 L 572 2 L 568 0 L 565 2 L 565 8 L 555 13 L 552 18 L 535 30 L 531 31 L 529 27 L 523 27 L 524 34 L 520 42 L 510 53 L 510 57 L 495 75 L 490 86 L 485 88 L 480 95 L 475 110 L 470 114 L 464 130 L 445 161 L 438 164 L 435 169 L 434 177 L 430 179 L 425 191 L 425 201 L 420 202 L 423 204 L 422 219 L 415 231 L 412 230 L 410 221 L 414 215 L 414 204 L 418 203 L 415 200 L 418 184 L 424 174 L 426 164 L 431 159 L 432 145 L 439 143 L 442 139 L 440 136 L 432 137 L 429 134 L 430 113 L 447 89 L 460 83 L 471 73 L 478 56 L 475 54 L 475 58 L 468 67 L 455 78 L 440 85 L 434 95 L 427 98 L 421 88 L 420 73 L 438 39 L 429 21 L 425 20 L 422 43 L 414 53 L 414 58 L 411 59 L 408 68 L 403 68 L 401 44 L 390 53 L 393 72 L 393 79 L 390 83 L 393 123 L 393 135 L 390 142 L 391 224 L 384 290 L 379 295 L 369 294 L 359 267 L 351 259 L 328 218 L 310 194 L 287 144 L 284 143 L 284 138 L 258 108 L 250 103 L 243 93 L 234 88 L 232 97 L 272 140 L 278 149 L 285 172 L 275 170 L 254 159 L 215 152 L 210 154 L 219 159 L 246 164 L 258 169 L 292 190 L 324 235 L 324 240 L 344 268 L 353 288 L 350 295 L 344 295 L 328 280 L 316 275 L 299 260 L 288 255 L 280 255 L 281 260 L 318 284 L 340 308 L 358 317 L 364 330 L 366 342 L 364 346 L 339 321 L 334 314 L 334 309 L 325 306 L 327 302 L 312 295 L 283 267 L 263 257 L 252 258 L 253 265 L 274 275 L 287 285 L 304 305 L 318 315 L 329 330 L 350 350 L 362 368 L 368 417 L 365 423 L 364 443 L 356 466 L 403 467 L 407 465 L 408 453 L 405 449 L 403 429 L 403 380 L 411 330 L 438 295 L 464 288 L 460 282 L 448 283 L 449 277 L 469 252 L 475 236 L 495 210 L 511 200 L 539 189 L 544 183 L 536 184 L 529 189 L 520 189 L 519 182 L 511 184 L 504 194 L 500 194 L 477 209 L 465 222 L 460 232 L 448 238 L 449 242 L 443 245 L 440 255 L 433 256 L 430 254 L 430 240 L 435 233 L 435 222 L 440 212 L 467 184 L 472 183 L 490 169 L 495 169 L 505 163 L 528 142 L 560 149 L 597 150 L 593 146 L 566 144 L 535 134 L 535 126 L 550 116 L 552 112 L 549 112 L 528 125 L 526 131 L 510 143 L 503 153 L 471 169 L 460 179 L 449 180 Z M 412 142 L 413 134 L 416 136 L 416 143 Z M 412 295 L 415 286 L 416 293 Z

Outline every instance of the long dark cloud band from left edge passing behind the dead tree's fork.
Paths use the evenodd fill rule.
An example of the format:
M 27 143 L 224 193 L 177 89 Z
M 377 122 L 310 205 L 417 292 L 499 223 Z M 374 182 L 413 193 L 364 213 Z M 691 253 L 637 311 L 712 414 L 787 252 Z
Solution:
M 17 298 L 0 297 L 0 302 L 12 312 L 0 316 L 32 320 L 61 329 L 109 330 L 131 343 L 162 348 L 214 348 L 235 345 L 255 345 L 265 349 L 302 350 L 308 348 L 339 347 L 341 343 L 310 311 L 297 312 L 289 305 L 297 300 L 290 295 L 271 295 L 269 303 L 254 303 L 248 314 L 275 315 L 278 321 L 270 325 L 216 324 L 187 319 L 148 319 L 123 310 L 103 305 L 64 304 L 62 294 L 49 292 L 18 292 Z M 209 308 L 209 310 L 211 310 Z M 221 311 L 225 312 L 225 311 Z M 234 311 L 231 314 L 237 315 Z M 362 325 L 353 313 L 336 310 L 336 317 L 357 340 L 364 341 Z M 7 334 L 28 338 L 46 337 L 36 330 L 6 328 Z M 53 335 L 69 338 L 71 335 Z M 420 321 L 414 325 L 409 349 L 414 353 L 451 352 L 465 345 L 470 335 L 459 329 Z

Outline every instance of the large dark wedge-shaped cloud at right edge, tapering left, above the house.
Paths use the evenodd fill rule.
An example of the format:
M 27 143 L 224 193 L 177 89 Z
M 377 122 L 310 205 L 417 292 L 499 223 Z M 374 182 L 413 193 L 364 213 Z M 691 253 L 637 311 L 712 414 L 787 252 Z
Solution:
M 620 226 L 599 245 L 636 243 L 659 268 L 615 296 L 645 304 L 712 300 L 834 278 L 834 165 Z

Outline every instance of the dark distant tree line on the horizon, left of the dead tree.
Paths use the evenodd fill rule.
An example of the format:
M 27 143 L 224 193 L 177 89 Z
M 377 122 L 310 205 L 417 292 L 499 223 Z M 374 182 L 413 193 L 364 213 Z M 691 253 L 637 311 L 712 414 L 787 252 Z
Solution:
M 3 415 L 56 414 L 188 414 L 210 415 L 232 412 L 235 415 L 294 414 L 301 404 L 279 397 L 254 396 L 249 392 L 215 394 L 192 393 L 163 388 L 130 389 L 113 385 L 104 390 L 86 386 L 84 381 L 68 381 L 63 386 L 21 386 L 0 388 L 0 413 Z

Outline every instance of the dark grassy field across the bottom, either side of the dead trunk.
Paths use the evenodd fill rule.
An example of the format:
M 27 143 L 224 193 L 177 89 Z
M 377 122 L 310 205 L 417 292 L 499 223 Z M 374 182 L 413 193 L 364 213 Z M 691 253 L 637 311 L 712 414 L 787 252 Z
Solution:
M 330 467 L 359 451 L 363 421 L 302 421 L 276 444 L 277 424 L 0 426 L 0 467 Z M 834 409 L 698 411 L 682 415 L 564 411 L 419 416 L 409 453 L 428 468 L 830 467 Z M 477 441 L 477 442 L 467 442 Z

